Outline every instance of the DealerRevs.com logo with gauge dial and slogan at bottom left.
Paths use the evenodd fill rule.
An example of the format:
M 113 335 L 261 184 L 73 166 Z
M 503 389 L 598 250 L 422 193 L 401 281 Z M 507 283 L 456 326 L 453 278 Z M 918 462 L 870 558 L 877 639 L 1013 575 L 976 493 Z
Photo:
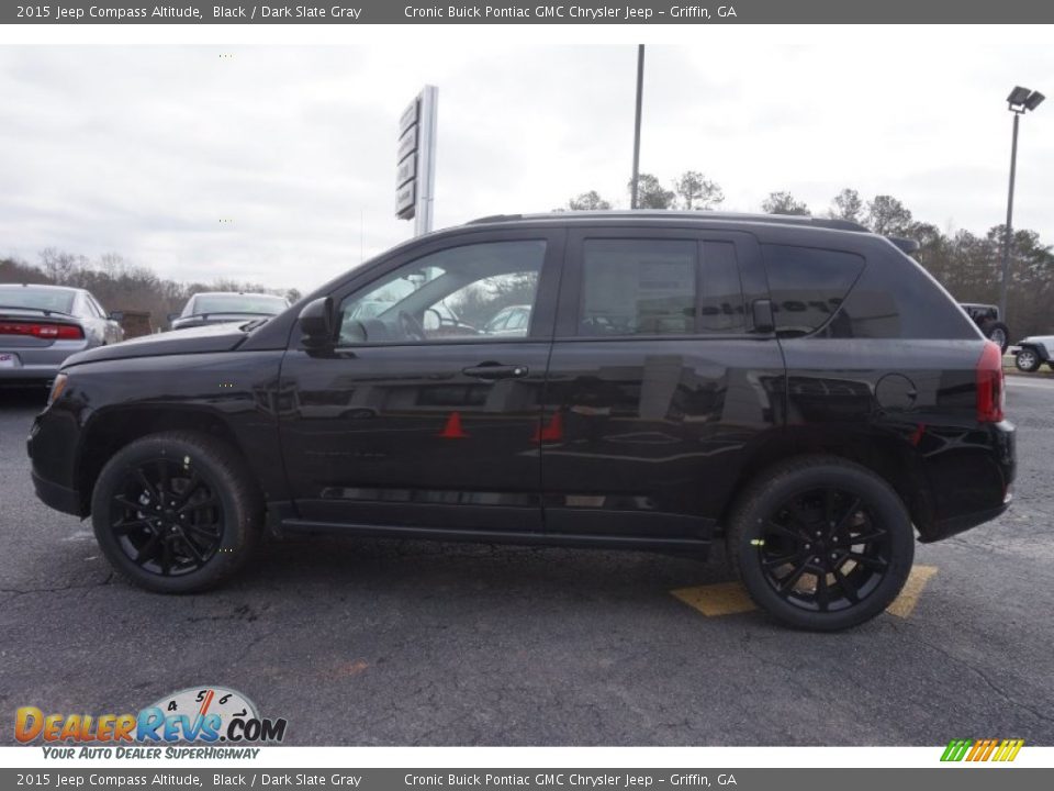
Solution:
M 284 718 L 261 717 L 245 695 L 224 687 L 189 687 L 161 698 L 136 713 L 54 714 L 37 706 L 15 712 L 14 737 L 22 744 L 42 740 L 55 745 L 48 750 L 58 758 L 127 757 L 157 758 L 160 748 L 144 750 L 130 745 L 235 745 L 277 744 L 285 737 Z M 81 746 L 58 748 L 59 744 Z M 91 747 L 89 747 L 91 745 Z M 111 746 L 113 748 L 111 749 Z M 116 750 L 116 753 L 114 753 Z M 250 750 L 255 757 L 259 750 Z M 111 755 L 106 755 L 110 753 Z M 167 749 L 165 757 L 221 757 L 218 750 L 205 756 L 198 750 Z M 224 749 L 227 757 L 239 757 Z M 227 755 L 229 754 L 229 755 Z

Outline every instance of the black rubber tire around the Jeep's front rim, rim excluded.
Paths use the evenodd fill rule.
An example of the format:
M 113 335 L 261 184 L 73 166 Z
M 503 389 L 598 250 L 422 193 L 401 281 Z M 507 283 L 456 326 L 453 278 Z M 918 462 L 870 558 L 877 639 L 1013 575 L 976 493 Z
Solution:
M 121 548 L 120 542 L 110 530 L 113 497 L 117 493 L 115 487 L 121 486 L 126 476 L 141 464 L 158 458 L 187 457 L 220 500 L 223 509 L 223 534 L 220 549 L 204 567 L 178 577 L 164 577 L 139 568 Z M 236 492 L 237 482 L 233 480 L 229 469 L 213 458 L 209 450 L 176 438 L 148 437 L 137 441 L 117 452 L 103 467 L 96 481 L 91 500 L 96 539 L 114 569 L 143 588 L 162 593 L 208 590 L 226 579 L 240 565 L 242 555 L 247 550 L 249 520 Z

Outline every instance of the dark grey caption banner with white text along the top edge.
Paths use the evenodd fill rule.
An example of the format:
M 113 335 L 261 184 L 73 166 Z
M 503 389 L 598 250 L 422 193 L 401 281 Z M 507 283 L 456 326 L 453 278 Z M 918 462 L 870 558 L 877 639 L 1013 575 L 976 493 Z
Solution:
M 706 0 L 704 0 L 704 3 Z M 1036 0 L 725 0 L 720 4 L 407 2 L 306 0 L 58 0 L 0 4 L 7 24 L 833 24 L 1054 22 L 1054 3 Z M 893 34 L 890 34 L 893 35 Z M 895 47 L 895 42 L 890 42 Z

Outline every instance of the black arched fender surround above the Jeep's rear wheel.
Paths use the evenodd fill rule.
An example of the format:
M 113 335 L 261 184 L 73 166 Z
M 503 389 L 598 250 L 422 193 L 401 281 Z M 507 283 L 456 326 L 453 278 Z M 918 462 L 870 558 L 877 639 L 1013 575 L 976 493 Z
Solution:
M 884 432 L 846 426 L 786 428 L 759 445 L 739 472 L 718 524 L 727 524 L 739 495 L 765 471 L 787 459 L 836 456 L 871 470 L 904 501 L 916 530 L 924 537 L 934 525 L 934 508 L 921 456 L 910 439 Z

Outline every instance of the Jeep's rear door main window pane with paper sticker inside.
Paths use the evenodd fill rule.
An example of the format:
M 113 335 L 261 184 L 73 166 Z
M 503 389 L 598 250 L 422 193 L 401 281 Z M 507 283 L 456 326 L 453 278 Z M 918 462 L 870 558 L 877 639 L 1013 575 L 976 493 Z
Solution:
M 695 332 L 695 242 L 587 239 L 579 335 Z

